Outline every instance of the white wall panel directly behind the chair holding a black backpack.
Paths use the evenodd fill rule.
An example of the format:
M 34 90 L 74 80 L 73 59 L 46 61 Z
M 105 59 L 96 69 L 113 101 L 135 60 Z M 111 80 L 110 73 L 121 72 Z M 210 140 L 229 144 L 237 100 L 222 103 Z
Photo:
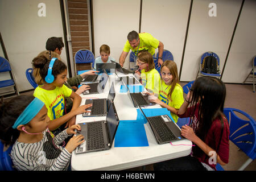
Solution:
M 217 5 L 216 17 L 208 14 L 211 2 Z M 207 51 L 217 53 L 222 71 L 241 2 L 242 0 L 193 1 L 181 81 L 195 80 L 201 55 Z

